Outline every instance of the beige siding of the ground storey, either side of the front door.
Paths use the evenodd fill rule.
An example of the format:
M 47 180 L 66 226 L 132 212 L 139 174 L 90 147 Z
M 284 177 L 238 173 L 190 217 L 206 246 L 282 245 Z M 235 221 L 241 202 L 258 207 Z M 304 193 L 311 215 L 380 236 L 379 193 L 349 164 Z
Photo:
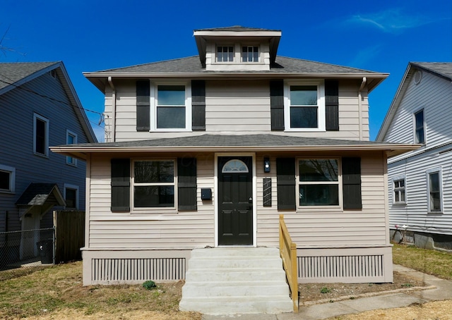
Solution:
M 115 154 L 115 157 L 120 157 Z M 123 155 L 127 156 L 127 155 Z M 137 154 L 143 157 L 144 154 Z M 158 154 L 165 158 L 165 154 Z M 173 154 L 172 156 L 177 156 Z M 256 245 L 278 246 L 279 214 L 285 214 L 292 239 L 298 247 L 371 247 L 388 245 L 385 216 L 384 161 L 381 153 L 362 157 L 362 210 L 307 209 L 278 211 L 276 188 L 276 158 L 270 156 L 270 173 L 263 173 L 263 157 L 256 155 Z M 302 154 L 291 156 L 319 156 Z M 321 156 L 341 156 L 328 154 Z M 347 154 L 347 156 L 350 156 Z M 357 156 L 353 154 L 352 156 Z M 215 195 L 214 154 L 197 154 L 197 211 L 161 214 L 115 212 L 110 207 L 110 156 L 92 156 L 90 168 L 89 247 L 190 249 L 215 245 L 215 198 L 201 201 L 201 187 L 209 187 Z M 263 178 L 272 179 L 272 207 L 263 207 Z

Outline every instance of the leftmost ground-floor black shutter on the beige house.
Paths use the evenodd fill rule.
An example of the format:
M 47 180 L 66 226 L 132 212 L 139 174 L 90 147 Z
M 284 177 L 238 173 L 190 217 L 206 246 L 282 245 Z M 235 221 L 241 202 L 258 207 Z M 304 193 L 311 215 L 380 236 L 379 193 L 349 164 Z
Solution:
M 130 211 L 130 159 L 112 159 L 112 211 Z

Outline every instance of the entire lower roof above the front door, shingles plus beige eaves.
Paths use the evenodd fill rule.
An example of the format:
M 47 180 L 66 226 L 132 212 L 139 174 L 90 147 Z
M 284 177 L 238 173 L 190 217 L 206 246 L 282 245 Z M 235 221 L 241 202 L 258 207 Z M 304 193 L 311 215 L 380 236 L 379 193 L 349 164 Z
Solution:
M 321 139 L 286 135 L 196 135 L 190 137 L 66 144 L 50 147 L 52 152 L 80 159 L 92 153 L 121 152 L 386 152 L 396 156 L 421 147 L 421 144 L 393 144 L 357 140 Z

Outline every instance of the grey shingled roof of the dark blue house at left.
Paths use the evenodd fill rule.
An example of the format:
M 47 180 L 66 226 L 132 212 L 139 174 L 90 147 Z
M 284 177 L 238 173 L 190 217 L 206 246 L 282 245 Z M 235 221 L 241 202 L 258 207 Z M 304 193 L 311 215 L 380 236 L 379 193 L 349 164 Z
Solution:
M 0 63 L 0 90 L 58 62 Z

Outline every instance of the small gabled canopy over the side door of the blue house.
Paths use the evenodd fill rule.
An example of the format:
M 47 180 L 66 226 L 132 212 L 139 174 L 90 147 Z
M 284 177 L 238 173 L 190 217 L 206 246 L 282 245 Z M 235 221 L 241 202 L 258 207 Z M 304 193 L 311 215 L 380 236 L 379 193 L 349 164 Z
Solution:
M 20 208 L 19 218 L 28 212 L 44 215 L 54 206 L 66 206 L 58 185 L 55 183 L 30 183 L 16 202 Z

